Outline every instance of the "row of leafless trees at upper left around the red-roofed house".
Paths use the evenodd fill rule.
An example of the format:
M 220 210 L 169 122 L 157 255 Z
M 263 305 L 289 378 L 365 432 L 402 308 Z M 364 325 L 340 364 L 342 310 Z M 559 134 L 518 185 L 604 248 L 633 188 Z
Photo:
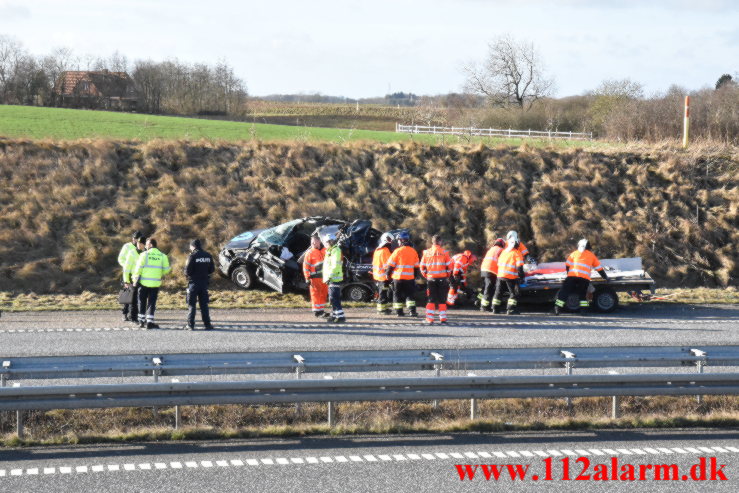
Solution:
M 246 84 L 225 61 L 213 65 L 178 60 L 129 60 L 77 56 L 68 49 L 35 56 L 0 35 L 0 103 L 55 106 L 54 91 L 67 71 L 126 72 L 134 81 L 136 109 L 144 113 L 211 115 L 240 119 L 246 113 Z

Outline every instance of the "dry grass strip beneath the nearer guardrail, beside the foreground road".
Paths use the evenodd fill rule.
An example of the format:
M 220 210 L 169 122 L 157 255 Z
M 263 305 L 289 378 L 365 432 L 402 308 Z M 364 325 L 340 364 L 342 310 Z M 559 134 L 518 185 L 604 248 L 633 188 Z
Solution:
M 737 427 L 739 399 L 625 397 L 621 418 L 611 420 L 610 398 L 503 399 L 478 402 L 480 418 L 470 421 L 468 401 L 352 402 L 337 405 L 337 424 L 325 424 L 326 405 L 183 406 L 183 428 L 174 430 L 174 409 L 57 410 L 27 413 L 27 437 L 13 435 L 14 413 L 0 413 L 0 446 L 213 438 L 353 435 L 367 433 L 452 433 L 514 430 Z

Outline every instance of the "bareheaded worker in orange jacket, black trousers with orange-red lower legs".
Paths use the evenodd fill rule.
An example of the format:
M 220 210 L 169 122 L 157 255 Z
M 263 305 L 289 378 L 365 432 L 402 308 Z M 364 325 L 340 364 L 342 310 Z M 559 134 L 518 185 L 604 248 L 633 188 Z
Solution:
M 431 248 L 423 251 L 420 262 L 421 275 L 426 279 L 426 323 L 434 323 L 439 314 L 439 323 L 446 324 L 446 295 L 449 276 L 452 274 L 452 259 L 441 247 L 441 237 L 431 237 Z

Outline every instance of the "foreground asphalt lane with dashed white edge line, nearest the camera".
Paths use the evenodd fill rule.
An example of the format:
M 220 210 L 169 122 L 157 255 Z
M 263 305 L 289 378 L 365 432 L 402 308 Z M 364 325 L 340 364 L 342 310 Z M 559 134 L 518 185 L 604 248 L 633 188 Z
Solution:
M 584 465 L 575 462 L 579 457 L 590 461 L 590 480 L 575 480 Z M 614 457 L 616 477 L 624 480 L 613 479 Z M 696 482 L 690 471 L 701 457 L 706 458 L 709 479 Z M 713 469 L 726 481 L 718 473 L 710 481 L 712 457 Z M 546 479 L 547 458 L 551 480 Z M 563 480 L 565 458 L 570 480 Z M 461 481 L 456 465 L 465 464 L 504 469 L 498 481 L 487 481 L 479 472 L 474 480 Z M 607 479 L 594 479 L 596 464 L 609 468 Z M 628 474 L 626 464 L 634 465 L 637 480 L 623 476 Z M 654 470 L 646 465 L 662 464 L 677 466 L 676 480 L 653 479 Z M 526 480 L 511 480 L 506 465 L 514 467 L 514 474 L 516 465 L 529 465 Z M 638 480 L 641 465 L 645 481 Z M 3 491 L 736 491 L 738 485 L 737 430 L 356 436 L 0 450 Z

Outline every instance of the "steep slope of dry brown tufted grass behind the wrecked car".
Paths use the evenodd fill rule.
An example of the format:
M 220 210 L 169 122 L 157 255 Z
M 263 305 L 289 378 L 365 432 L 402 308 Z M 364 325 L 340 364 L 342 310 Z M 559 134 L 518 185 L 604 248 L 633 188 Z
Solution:
M 299 216 L 370 217 L 484 252 L 517 229 L 540 260 L 580 236 L 642 256 L 663 285 L 736 285 L 739 151 L 0 139 L 0 291 L 113 291 L 134 229 L 181 286 L 187 243 Z M 224 285 L 225 286 L 225 285 Z

